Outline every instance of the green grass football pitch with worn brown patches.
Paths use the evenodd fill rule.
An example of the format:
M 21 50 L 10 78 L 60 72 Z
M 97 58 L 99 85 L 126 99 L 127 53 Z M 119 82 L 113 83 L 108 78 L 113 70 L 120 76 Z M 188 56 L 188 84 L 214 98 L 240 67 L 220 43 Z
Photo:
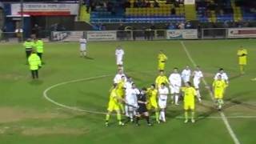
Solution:
M 166 123 L 118 126 L 116 116 L 105 127 L 109 90 L 117 73 L 114 50 L 125 50 L 124 69 L 139 88 L 158 75 L 157 55 L 169 58 L 166 75 L 184 66 L 201 66 L 202 103 L 196 103 L 196 122 L 183 123 L 183 106 L 171 105 Z M 237 50 L 248 50 L 246 74 L 239 74 Z M 256 143 L 256 41 L 89 42 L 88 57 L 80 58 L 78 43 L 45 43 L 39 80 L 30 78 L 22 44 L 0 44 L 1 144 L 254 144 Z M 222 112 L 214 108 L 210 90 L 214 74 L 224 68 L 230 86 Z M 154 114 L 152 114 L 154 115 Z M 154 120 L 154 118 L 151 118 Z

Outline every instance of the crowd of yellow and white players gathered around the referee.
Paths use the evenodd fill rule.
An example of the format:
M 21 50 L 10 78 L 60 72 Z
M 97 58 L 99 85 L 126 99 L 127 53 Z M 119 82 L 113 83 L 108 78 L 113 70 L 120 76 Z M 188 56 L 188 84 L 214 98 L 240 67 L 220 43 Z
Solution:
M 118 55 L 121 54 L 121 55 Z M 110 114 L 113 110 L 117 112 L 118 124 L 124 125 L 121 118 L 121 113 L 126 114 L 126 117 L 130 122 L 134 122 L 136 126 L 139 126 L 139 119 L 144 116 L 148 126 L 152 126 L 149 118 L 149 111 L 153 110 L 155 113 L 156 122 L 166 122 L 166 105 L 168 94 L 171 94 L 172 102 L 178 105 L 178 100 L 183 96 L 184 110 L 185 110 L 185 123 L 189 120 L 189 110 L 191 112 L 191 122 L 194 120 L 194 97 L 198 98 L 199 102 L 202 102 L 201 94 L 199 92 L 199 84 L 203 77 L 202 71 L 199 66 L 193 71 L 189 66 L 186 66 L 182 73 L 178 73 L 178 68 L 174 68 L 173 73 L 170 74 L 169 79 L 164 75 L 165 62 L 167 57 L 160 51 L 158 54 L 158 70 L 159 75 L 155 80 L 155 84 L 152 84 L 149 88 L 142 88 L 138 90 L 132 78 L 127 77 L 122 73 L 122 56 L 123 50 L 118 46 L 116 50 L 118 74 L 114 78 L 114 86 L 110 90 L 110 102 L 108 104 L 108 113 L 106 114 L 106 126 L 109 126 Z M 119 57 L 118 57 L 119 56 Z M 193 77 L 193 85 L 190 82 L 190 78 Z M 183 82 L 183 86 L 182 86 Z M 170 87 L 170 91 L 168 87 Z M 223 69 L 220 69 L 214 77 L 213 82 L 214 98 L 218 110 L 222 109 L 223 94 L 226 86 L 228 86 L 228 77 Z M 183 94 L 180 94 L 182 90 Z

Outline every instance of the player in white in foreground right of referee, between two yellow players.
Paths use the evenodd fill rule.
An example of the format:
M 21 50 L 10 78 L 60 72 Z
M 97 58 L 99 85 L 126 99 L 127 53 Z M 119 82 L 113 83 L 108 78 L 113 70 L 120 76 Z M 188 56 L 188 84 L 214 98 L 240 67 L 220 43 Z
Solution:
M 160 108 L 159 120 L 162 122 L 166 122 L 166 104 L 169 90 L 165 86 L 165 83 L 161 84 L 160 88 L 158 89 L 158 94 L 158 106 Z

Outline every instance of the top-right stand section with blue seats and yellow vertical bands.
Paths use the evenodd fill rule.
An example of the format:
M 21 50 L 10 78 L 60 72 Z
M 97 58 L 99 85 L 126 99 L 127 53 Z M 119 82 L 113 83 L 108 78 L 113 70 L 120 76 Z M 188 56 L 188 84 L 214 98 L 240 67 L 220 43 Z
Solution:
M 256 20 L 256 2 L 208 0 L 196 2 L 200 22 L 239 22 Z

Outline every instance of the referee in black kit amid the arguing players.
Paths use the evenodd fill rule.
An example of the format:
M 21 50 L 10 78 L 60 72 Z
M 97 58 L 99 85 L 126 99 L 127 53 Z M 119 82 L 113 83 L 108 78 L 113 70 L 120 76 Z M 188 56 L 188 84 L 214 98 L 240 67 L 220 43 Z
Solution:
M 146 118 L 146 122 L 147 122 L 147 126 L 152 126 L 152 124 L 150 123 L 150 115 L 148 110 L 146 109 L 146 88 L 143 87 L 141 90 L 141 93 L 138 94 L 138 110 L 137 110 L 137 114 L 136 114 L 136 126 L 140 126 L 138 121 L 139 119 L 143 116 L 144 118 Z

